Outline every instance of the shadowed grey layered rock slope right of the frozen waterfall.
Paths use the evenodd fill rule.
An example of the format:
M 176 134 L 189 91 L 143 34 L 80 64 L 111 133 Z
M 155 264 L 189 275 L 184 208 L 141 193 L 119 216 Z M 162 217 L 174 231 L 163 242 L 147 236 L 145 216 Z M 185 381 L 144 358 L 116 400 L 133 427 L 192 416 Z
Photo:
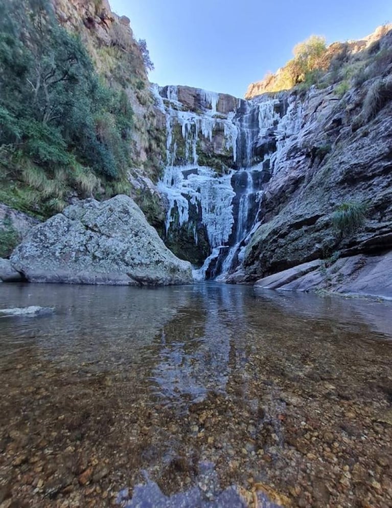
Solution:
M 357 78 L 342 95 L 339 83 L 286 93 L 300 127 L 278 150 L 263 190 L 261 225 L 246 248 L 243 270 L 229 280 L 252 281 L 321 259 L 324 277 L 303 289 L 335 289 L 342 279 L 359 276 L 367 256 L 391 249 L 391 32 L 380 39 L 373 58 L 367 64 L 369 78 Z M 361 227 L 339 229 L 336 216 L 350 207 L 361 208 L 365 220 Z M 358 266 L 343 270 L 336 280 L 337 259 L 348 256 L 359 256 Z

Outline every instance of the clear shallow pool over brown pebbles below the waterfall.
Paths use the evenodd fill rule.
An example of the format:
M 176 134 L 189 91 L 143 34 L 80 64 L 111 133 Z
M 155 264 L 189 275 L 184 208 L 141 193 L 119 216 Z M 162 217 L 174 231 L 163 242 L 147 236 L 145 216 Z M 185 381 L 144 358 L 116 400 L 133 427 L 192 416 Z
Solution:
M 0 318 L 2 495 L 43 508 L 390 505 L 390 302 L 0 286 L 0 308 L 30 305 L 55 312 Z

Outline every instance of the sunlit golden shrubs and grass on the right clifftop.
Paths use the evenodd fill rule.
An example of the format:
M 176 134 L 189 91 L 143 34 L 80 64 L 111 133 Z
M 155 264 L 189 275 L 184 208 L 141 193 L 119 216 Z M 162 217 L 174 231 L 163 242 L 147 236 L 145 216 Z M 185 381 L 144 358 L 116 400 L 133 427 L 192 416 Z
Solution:
M 324 37 L 312 35 L 294 47 L 294 58 L 284 67 L 275 74 L 268 72 L 261 81 L 251 83 L 245 98 L 291 90 L 295 86 L 308 88 L 314 84 L 325 88 L 336 83 L 339 84 L 337 93 L 343 95 L 354 78 L 363 82 L 378 74 L 372 66 L 375 67 L 381 60 L 387 64 L 392 61 L 390 48 L 386 50 L 380 46 L 380 39 L 391 29 L 392 25 L 383 25 L 363 40 L 334 42 L 330 46 L 326 45 Z

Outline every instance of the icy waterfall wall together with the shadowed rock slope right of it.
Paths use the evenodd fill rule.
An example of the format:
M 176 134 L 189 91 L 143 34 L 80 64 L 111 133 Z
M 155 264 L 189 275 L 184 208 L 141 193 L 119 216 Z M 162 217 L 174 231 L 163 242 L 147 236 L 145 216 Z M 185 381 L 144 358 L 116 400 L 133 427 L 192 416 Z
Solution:
M 251 101 L 158 90 L 168 238 L 180 256 L 210 252 L 201 277 L 251 282 L 318 259 L 320 277 L 303 289 L 334 289 L 391 248 L 392 33 L 376 35 L 335 52 L 340 71 L 312 86 Z M 344 210 L 363 220 L 339 227 Z

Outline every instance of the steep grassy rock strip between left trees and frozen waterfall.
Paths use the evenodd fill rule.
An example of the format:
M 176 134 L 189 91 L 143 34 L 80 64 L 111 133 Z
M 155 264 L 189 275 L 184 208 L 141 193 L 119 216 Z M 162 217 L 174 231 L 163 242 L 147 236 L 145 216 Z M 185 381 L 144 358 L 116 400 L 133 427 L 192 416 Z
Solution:
M 98 73 L 111 87 L 124 89 L 134 112 L 132 164 L 134 176 L 158 178 L 162 136 L 141 48 L 130 20 L 112 12 L 107 0 L 52 0 L 59 23 L 81 35 Z

